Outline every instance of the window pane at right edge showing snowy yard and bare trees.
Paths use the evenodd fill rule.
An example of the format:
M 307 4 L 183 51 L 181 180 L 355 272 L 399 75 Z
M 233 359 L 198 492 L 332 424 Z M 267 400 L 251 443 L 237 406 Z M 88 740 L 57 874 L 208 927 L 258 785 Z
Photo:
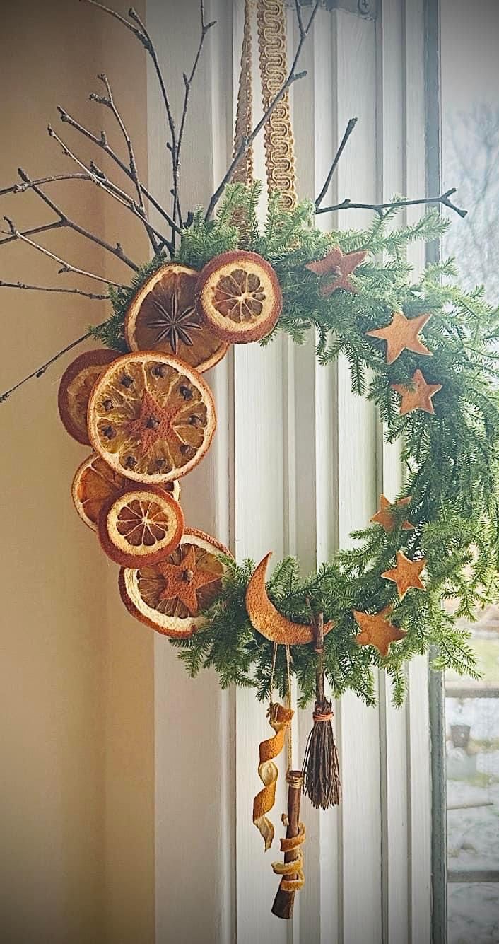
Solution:
M 441 0 L 443 240 L 464 284 L 499 304 L 499 3 Z M 499 361 L 498 361 L 499 380 Z M 499 601 L 498 601 L 499 602 Z M 499 941 L 499 605 L 476 614 L 479 681 L 445 679 L 448 944 Z

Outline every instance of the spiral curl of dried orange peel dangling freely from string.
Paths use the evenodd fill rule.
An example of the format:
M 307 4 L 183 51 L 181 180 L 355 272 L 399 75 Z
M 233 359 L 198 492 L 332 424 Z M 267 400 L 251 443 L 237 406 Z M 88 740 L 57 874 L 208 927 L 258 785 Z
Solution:
M 284 705 L 278 703 L 272 704 L 269 709 L 269 723 L 274 728 L 275 734 L 274 737 L 261 741 L 259 746 L 258 777 L 263 784 L 263 790 L 260 790 L 253 801 L 253 822 L 263 838 L 265 851 L 270 849 L 274 840 L 274 826 L 267 818 L 267 813 L 270 813 L 275 802 L 278 771 L 274 758 L 284 747 L 286 731 L 293 714 L 291 708 L 285 708 Z

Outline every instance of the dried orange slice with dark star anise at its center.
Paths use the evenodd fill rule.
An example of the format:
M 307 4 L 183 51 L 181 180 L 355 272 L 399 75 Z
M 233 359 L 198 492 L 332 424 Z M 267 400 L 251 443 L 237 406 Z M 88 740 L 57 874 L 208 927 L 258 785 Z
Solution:
M 141 286 L 125 315 L 132 351 L 164 351 L 200 374 L 218 363 L 228 346 L 203 323 L 195 303 L 199 273 L 168 262 Z

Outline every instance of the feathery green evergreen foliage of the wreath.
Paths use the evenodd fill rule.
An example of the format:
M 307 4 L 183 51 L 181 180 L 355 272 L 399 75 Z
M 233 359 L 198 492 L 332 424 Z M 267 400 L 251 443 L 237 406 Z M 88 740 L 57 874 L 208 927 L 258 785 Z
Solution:
M 322 232 L 315 227 L 310 203 L 283 211 L 278 193 L 271 195 L 260 225 L 259 197 L 259 183 L 229 185 L 213 220 L 205 222 L 204 212 L 196 211 L 191 227 L 182 233 L 177 261 L 201 269 L 213 257 L 239 247 L 272 263 L 283 294 L 273 334 L 286 331 L 301 344 L 313 330 L 321 363 L 344 357 L 352 391 L 374 402 L 389 442 L 402 439 L 406 484 L 399 497 L 410 496 L 404 517 L 414 525 L 412 531 L 403 530 L 401 516 L 390 533 L 376 524 L 358 531 L 352 549 L 340 551 L 305 579 L 288 558 L 275 568 L 269 596 L 297 621 L 308 621 L 319 611 L 334 620 L 334 630 L 325 639 L 324 665 L 335 696 L 352 690 L 373 703 L 373 673 L 379 666 L 389 673 L 393 700 L 399 704 L 405 692 L 405 662 L 431 645 L 439 651 L 436 669 L 474 673 L 473 652 L 458 620 L 472 619 L 476 607 L 496 598 L 499 590 L 499 311 L 487 305 L 482 289 L 458 288 L 453 260 L 427 266 L 422 276 L 414 277 L 408 245 L 441 236 L 446 224 L 437 211 L 426 212 L 411 225 L 396 227 L 398 211 L 392 210 L 383 218 L 376 216 L 365 230 Z M 345 253 L 365 250 L 367 255 L 353 277 L 356 292 L 324 297 L 321 280 L 305 266 L 335 245 Z M 96 337 L 125 349 L 126 308 L 144 278 L 164 261 L 163 256 L 155 258 L 129 289 L 111 291 L 114 312 L 104 327 L 93 329 Z M 424 328 L 431 358 L 404 351 L 389 365 L 384 343 L 366 336 L 368 330 L 388 325 L 397 310 L 408 317 L 431 313 Z M 436 412 L 401 416 L 392 384 L 410 386 L 417 368 L 428 383 L 442 384 L 435 396 Z M 424 593 L 411 589 L 399 600 L 394 584 L 381 578 L 394 565 L 397 550 L 411 559 L 426 558 Z M 203 631 L 175 645 L 191 675 L 213 666 L 223 687 L 253 686 L 264 699 L 271 683 L 273 646 L 252 628 L 244 605 L 253 564 L 230 561 L 227 566 L 223 593 L 209 609 Z M 445 601 L 448 605 L 442 606 Z M 382 658 L 374 647 L 357 645 L 352 611 L 377 613 L 389 604 L 391 620 L 407 634 Z M 291 657 L 306 703 L 314 695 L 313 646 L 293 647 Z M 282 647 L 275 683 L 284 694 Z

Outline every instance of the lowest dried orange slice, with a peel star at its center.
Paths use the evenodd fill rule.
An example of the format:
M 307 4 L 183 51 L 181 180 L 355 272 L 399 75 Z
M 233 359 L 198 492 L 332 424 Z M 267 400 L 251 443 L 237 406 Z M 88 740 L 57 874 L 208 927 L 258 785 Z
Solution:
M 203 531 L 186 528 L 178 548 L 158 564 L 123 567 L 120 593 L 128 612 L 146 626 L 182 638 L 201 629 L 200 614 L 222 589 L 223 544 Z

